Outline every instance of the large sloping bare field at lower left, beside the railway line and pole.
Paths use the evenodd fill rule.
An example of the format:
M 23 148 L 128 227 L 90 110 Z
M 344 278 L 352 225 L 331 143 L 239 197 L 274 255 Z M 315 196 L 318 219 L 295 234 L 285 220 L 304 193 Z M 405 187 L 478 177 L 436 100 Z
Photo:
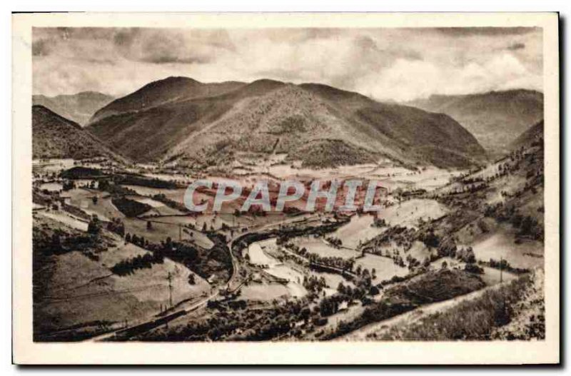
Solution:
M 108 269 L 121 260 L 144 255 L 146 250 L 132 244 L 119 245 L 98 253 L 91 260 L 78 251 L 53 255 L 40 273 L 46 295 L 34 304 L 37 337 L 58 340 L 81 335 L 84 330 L 105 330 L 113 325 L 132 325 L 161 312 L 169 304 L 171 274 L 172 300 L 198 298 L 209 290 L 208 283 L 182 265 L 164 260 L 152 268 L 131 275 L 113 275 Z M 94 323 L 98 325 L 94 326 Z M 104 324 L 104 325 L 103 325 Z

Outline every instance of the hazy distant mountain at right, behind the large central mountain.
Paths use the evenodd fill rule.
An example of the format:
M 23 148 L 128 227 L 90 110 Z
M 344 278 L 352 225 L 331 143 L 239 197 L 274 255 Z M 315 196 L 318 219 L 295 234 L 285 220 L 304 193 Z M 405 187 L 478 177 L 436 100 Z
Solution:
M 508 151 L 517 135 L 543 118 L 543 94 L 532 90 L 490 91 L 462 96 L 434 95 L 410 106 L 455 118 L 491 153 Z

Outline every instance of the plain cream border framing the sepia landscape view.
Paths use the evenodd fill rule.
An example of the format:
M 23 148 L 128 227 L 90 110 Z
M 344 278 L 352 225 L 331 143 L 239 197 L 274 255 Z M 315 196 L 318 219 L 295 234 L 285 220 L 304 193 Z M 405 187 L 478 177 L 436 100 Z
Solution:
M 520 364 L 559 360 L 557 14 L 19 14 L 13 18 L 13 313 L 19 364 Z M 31 342 L 31 26 L 540 26 L 545 70 L 547 339 L 540 342 Z

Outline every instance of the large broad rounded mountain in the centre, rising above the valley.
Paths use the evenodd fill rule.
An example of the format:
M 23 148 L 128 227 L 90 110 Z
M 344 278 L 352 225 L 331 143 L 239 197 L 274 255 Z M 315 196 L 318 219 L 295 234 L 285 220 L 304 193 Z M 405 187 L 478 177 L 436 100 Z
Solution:
M 199 83 L 172 77 L 109 103 L 89 131 L 136 161 L 222 165 L 286 153 L 325 167 L 390 158 L 468 166 L 485 157 L 450 116 L 315 83 Z

